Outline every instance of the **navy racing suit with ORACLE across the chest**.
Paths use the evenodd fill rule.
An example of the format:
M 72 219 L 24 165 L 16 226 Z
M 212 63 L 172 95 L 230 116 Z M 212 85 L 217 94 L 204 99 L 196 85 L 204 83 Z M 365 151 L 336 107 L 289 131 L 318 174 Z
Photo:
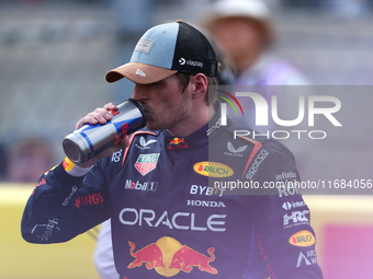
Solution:
M 235 139 L 242 129 L 222 126 L 217 112 L 184 138 L 137 131 L 83 177 L 64 161 L 39 178 L 22 235 L 65 242 L 111 218 L 122 279 L 323 278 L 309 210 L 286 184 L 299 179 L 292 153 L 272 139 Z

